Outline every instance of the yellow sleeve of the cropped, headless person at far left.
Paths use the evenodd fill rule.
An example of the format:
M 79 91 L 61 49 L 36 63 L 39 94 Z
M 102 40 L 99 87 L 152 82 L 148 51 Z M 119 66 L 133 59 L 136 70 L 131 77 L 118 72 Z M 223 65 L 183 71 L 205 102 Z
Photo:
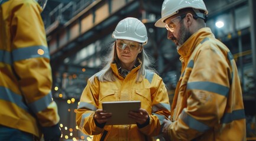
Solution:
M 12 1 L 11 56 L 20 90 L 43 127 L 59 122 L 52 99 L 50 54 L 41 19 L 41 8 L 31 0 Z

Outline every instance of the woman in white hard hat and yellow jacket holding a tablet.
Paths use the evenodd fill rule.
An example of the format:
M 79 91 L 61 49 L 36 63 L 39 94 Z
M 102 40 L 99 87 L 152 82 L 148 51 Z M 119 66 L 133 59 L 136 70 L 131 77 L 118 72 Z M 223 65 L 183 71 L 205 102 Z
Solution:
M 170 103 L 163 80 L 153 69 L 144 51 L 147 29 L 136 18 L 122 19 L 112 34 L 105 67 L 89 80 L 80 98 L 76 123 L 93 140 L 152 140 L 161 132 Z M 102 110 L 102 102 L 140 100 L 138 112 L 128 116 L 136 125 L 105 125 L 112 113 Z

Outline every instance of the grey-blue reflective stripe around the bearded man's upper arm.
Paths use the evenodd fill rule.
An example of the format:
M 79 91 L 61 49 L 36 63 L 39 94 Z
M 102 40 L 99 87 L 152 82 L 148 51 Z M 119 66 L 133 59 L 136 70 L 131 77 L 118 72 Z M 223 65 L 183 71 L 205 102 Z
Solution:
M 208 92 L 218 93 L 219 95 L 228 96 L 229 88 L 218 83 L 212 82 L 189 82 L 187 83 L 187 90 L 198 89 L 206 90 Z

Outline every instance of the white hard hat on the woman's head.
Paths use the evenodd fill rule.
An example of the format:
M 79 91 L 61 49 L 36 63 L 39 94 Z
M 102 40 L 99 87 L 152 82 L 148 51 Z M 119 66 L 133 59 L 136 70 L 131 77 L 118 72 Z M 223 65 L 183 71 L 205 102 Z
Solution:
M 114 39 L 127 39 L 145 45 L 148 41 L 147 28 L 137 18 L 122 19 L 112 34 Z

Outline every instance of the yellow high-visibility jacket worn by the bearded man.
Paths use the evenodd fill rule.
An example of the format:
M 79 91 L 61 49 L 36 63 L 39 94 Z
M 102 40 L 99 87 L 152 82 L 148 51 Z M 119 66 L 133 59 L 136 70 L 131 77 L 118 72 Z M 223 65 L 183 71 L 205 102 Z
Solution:
M 171 140 L 246 140 L 245 113 L 236 63 L 209 28 L 178 50 L 182 62 L 171 106 Z

